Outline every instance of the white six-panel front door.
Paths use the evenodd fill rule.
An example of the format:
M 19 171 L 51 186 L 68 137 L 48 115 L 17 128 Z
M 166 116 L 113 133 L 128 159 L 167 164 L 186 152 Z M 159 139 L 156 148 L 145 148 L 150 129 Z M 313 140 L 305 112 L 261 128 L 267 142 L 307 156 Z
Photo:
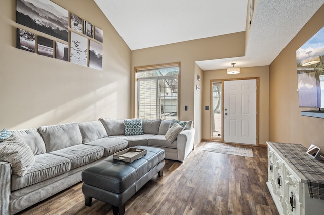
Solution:
M 224 142 L 256 145 L 257 80 L 224 81 Z

